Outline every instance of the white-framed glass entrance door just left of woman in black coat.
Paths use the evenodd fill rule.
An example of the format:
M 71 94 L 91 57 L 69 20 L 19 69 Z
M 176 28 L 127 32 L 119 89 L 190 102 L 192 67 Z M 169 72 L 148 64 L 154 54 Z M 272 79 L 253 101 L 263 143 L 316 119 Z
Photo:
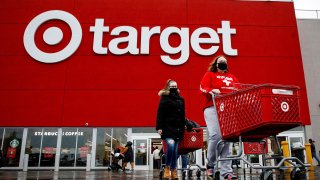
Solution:
M 133 152 L 135 169 L 148 170 L 149 169 L 149 154 L 150 154 L 150 140 L 133 139 Z

